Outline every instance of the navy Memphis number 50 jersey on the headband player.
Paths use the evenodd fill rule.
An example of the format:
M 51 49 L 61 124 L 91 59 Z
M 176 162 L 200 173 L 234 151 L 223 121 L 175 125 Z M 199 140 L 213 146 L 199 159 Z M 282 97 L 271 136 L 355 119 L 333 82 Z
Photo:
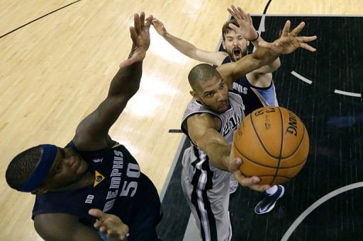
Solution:
M 67 147 L 77 148 L 71 142 Z M 143 240 L 147 229 L 160 221 L 161 207 L 157 189 L 140 172 L 135 158 L 125 146 L 117 145 L 99 151 L 77 151 L 95 173 L 94 184 L 71 192 L 48 192 L 37 195 L 33 218 L 41 213 L 69 213 L 82 223 L 93 225 L 90 208 L 111 213 L 130 228 L 128 240 Z

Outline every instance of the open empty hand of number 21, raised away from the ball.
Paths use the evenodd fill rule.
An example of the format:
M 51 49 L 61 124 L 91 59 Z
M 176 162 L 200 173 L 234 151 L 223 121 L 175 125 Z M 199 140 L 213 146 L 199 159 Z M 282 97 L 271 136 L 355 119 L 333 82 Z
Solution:
M 294 30 L 289 32 L 291 22 L 287 20 L 282 30 L 281 37 L 274 42 L 259 42 L 260 47 L 265 47 L 270 49 L 277 54 L 290 54 L 298 48 L 306 49 L 310 52 L 315 52 L 316 49 L 308 45 L 306 42 L 311 42 L 316 40 L 316 36 L 298 36 L 298 34 L 303 30 L 305 26 L 304 22 L 301 22 Z

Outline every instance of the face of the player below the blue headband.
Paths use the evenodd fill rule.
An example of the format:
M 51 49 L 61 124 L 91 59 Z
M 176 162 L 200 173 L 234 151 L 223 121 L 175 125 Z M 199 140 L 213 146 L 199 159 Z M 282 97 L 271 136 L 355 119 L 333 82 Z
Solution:
M 59 192 L 77 189 L 77 184 L 88 172 L 88 163 L 72 148 L 59 148 L 43 187 Z

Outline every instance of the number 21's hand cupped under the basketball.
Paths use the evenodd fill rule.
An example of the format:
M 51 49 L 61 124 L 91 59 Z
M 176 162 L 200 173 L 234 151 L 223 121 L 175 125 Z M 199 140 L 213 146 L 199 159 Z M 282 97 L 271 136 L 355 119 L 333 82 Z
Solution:
M 233 173 L 235 180 L 237 180 L 243 187 L 250 187 L 250 189 L 258 192 L 264 192 L 270 188 L 269 185 L 259 185 L 259 177 L 245 177 L 242 175 L 242 172 L 239 169 L 240 165 L 242 165 L 242 160 L 240 158 L 233 158 L 230 160 L 228 170 Z

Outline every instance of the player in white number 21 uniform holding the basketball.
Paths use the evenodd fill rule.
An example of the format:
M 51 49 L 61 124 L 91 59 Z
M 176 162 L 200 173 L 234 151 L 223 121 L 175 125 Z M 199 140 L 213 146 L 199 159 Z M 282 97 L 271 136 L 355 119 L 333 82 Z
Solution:
M 316 36 L 297 36 L 303 26 L 301 23 L 289 33 L 290 21 L 286 21 L 281 37 L 272 43 L 260 42 L 255 53 L 217 69 L 199 64 L 189 73 L 193 100 L 186 108 L 181 129 L 191 140 L 191 147 L 184 151 L 181 185 L 203 240 L 232 237 L 228 213 L 231 173 L 242 186 L 260 192 L 270 188 L 259 185 L 259 177 L 244 177 L 238 170 L 242 160 L 230 156 L 233 131 L 245 117 L 241 95 L 232 92 L 233 81 L 299 47 L 315 51 L 306 42 Z

